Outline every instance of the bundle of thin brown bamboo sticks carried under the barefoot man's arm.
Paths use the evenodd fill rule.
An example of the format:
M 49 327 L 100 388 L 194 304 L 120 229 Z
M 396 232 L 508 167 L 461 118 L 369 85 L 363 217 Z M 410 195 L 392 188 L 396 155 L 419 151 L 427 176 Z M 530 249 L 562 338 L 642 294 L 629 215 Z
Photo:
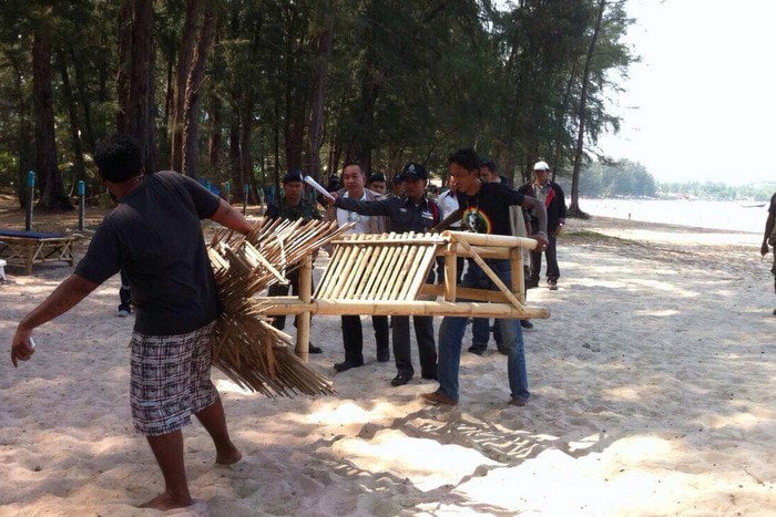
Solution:
M 257 221 L 246 235 L 218 230 L 208 242 L 222 316 L 213 345 L 213 364 L 243 389 L 268 396 L 333 394 L 334 384 L 294 354 L 292 338 L 264 316 L 272 303 L 254 294 L 275 282 L 349 227 L 302 219 Z

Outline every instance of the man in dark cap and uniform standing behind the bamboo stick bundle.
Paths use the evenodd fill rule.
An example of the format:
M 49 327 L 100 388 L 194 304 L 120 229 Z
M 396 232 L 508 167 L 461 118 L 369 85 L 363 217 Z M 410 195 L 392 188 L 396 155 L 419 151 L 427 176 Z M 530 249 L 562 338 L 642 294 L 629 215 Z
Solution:
M 266 214 L 267 218 L 288 220 L 303 219 L 305 221 L 320 219 L 320 213 L 310 201 L 305 199 L 304 192 L 305 186 L 302 170 L 296 169 L 286 174 L 283 177 L 283 197 L 280 197 L 277 204 L 269 205 Z M 294 294 L 299 293 L 299 270 L 295 269 L 290 271 L 287 277 L 289 285 L 274 283 L 269 286 L 268 294 L 270 297 L 284 297 L 288 294 L 289 289 L 293 289 Z M 286 317 L 276 316 L 273 319 L 273 327 L 283 330 L 286 327 Z M 294 327 L 296 327 L 296 321 L 294 322 Z M 314 347 L 312 344 L 308 347 L 308 350 L 309 353 L 321 352 L 319 347 Z

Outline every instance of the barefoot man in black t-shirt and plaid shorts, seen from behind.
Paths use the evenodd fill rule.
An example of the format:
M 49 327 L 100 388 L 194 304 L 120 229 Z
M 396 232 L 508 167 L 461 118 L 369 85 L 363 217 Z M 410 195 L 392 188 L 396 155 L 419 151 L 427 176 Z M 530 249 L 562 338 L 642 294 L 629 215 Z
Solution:
M 131 343 L 130 404 L 164 476 L 162 494 L 143 504 L 161 510 L 192 505 L 181 428 L 194 414 L 215 444 L 216 463 L 239 461 L 221 399 L 210 379 L 211 334 L 218 316 L 215 280 L 200 220 L 236 231 L 249 223 L 195 180 L 173 172 L 143 175 L 141 151 L 124 135 L 94 152 L 100 177 L 119 200 L 85 257 L 17 328 L 11 360 L 34 353 L 32 330 L 67 312 L 123 270 L 137 309 Z

